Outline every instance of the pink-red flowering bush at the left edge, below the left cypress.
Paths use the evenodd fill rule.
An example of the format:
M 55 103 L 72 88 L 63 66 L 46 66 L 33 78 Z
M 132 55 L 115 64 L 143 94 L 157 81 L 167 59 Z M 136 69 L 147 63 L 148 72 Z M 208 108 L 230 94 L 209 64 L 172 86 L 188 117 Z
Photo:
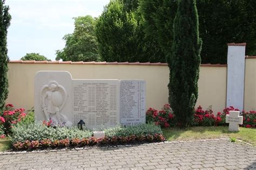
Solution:
M 23 121 L 25 114 L 25 109 L 14 109 L 14 105 L 6 104 L 3 113 L 0 116 L 0 136 L 5 137 L 5 134 L 10 133 L 12 125 Z

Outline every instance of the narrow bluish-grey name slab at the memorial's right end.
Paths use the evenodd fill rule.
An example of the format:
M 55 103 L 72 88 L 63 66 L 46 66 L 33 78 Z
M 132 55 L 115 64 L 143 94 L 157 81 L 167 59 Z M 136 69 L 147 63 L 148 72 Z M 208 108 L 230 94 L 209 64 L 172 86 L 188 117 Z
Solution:
M 145 80 L 120 80 L 120 123 L 133 126 L 146 123 Z

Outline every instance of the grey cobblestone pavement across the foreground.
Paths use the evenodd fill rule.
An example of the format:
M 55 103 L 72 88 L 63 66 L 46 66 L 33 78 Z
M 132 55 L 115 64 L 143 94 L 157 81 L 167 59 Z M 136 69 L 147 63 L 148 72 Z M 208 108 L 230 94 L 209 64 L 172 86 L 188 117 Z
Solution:
M 227 139 L 0 154 L 0 169 L 256 169 L 256 147 Z

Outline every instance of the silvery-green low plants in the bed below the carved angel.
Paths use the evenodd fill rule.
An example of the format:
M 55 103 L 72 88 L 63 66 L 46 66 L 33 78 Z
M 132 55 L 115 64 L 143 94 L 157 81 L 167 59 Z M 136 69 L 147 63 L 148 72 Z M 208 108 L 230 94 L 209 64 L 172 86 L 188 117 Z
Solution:
M 88 130 L 81 131 L 77 128 L 68 128 L 66 126 L 60 127 L 48 127 L 43 125 L 42 122 L 35 122 L 35 124 L 17 124 L 12 128 L 12 143 L 17 141 L 24 142 L 25 140 L 38 140 L 43 139 L 60 140 L 60 139 L 72 139 L 72 138 L 90 138 L 92 132 Z

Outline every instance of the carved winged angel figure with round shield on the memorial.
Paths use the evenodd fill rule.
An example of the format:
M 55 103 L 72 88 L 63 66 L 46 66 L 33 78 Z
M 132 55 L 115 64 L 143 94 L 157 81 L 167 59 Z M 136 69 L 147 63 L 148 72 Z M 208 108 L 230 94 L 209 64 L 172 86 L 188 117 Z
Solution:
M 47 120 L 52 118 L 55 122 L 65 122 L 66 125 L 72 125 L 65 115 L 60 114 L 67 98 L 68 94 L 65 88 L 60 86 L 56 81 L 51 81 L 48 85 L 42 87 L 40 103 Z

